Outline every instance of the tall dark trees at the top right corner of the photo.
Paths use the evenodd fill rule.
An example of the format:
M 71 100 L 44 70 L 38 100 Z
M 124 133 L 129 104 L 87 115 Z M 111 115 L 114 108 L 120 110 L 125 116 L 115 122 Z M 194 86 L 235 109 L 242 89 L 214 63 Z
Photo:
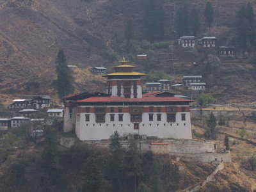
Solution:
M 252 51 L 256 47 L 256 20 L 250 2 L 237 13 L 236 31 L 241 49 L 243 51 Z

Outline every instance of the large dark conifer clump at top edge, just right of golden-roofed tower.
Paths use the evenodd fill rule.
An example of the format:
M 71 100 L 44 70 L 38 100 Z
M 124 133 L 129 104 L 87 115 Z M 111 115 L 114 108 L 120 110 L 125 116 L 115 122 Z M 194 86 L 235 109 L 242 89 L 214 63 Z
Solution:
M 144 35 L 147 40 L 162 39 L 164 36 L 164 10 L 161 4 L 148 0 L 144 15 Z

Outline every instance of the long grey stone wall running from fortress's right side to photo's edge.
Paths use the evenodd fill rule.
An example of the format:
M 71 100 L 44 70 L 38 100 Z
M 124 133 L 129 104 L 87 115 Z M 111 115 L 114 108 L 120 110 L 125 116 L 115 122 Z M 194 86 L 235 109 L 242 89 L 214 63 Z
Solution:
M 198 118 L 201 116 L 201 112 L 198 109 L 191 109 L 191 118 Z M 220 118 L 220 116 L 225 116 L 227 118 L 234 118 L 234 116 L 238 117 L 256 117 L 256 111 L 219 111 L 219 110 L 203 110 L 202 116 L 209 117 L 211 113 L 216 116 L 216 118 Z

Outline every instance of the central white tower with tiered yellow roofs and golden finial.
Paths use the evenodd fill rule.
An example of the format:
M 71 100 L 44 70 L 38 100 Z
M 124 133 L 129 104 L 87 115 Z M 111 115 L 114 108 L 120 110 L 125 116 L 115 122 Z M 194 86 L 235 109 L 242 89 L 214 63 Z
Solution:
M 125 58 L 119 61 L 121 65 L 113 67 L 115 72 L 106 74 L 107 93 L 125 98 L 142 98 L 141 76 L 145 74 L 134 72 L 134 65 L 127 65 Z

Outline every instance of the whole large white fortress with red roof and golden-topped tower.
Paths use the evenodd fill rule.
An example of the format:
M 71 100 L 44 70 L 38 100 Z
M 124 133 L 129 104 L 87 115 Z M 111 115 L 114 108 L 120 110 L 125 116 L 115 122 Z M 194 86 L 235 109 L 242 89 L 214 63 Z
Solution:
M 75 129 L 79 140 L 105 140 L 115 131 L 121 136 L 191 139 L 192 100 L 169 92 L 142 94 L 145 74 L 132 71 L 134 67 L 122 60 L 105 76 L 109 94 L 65 97 L 64 131 Z

